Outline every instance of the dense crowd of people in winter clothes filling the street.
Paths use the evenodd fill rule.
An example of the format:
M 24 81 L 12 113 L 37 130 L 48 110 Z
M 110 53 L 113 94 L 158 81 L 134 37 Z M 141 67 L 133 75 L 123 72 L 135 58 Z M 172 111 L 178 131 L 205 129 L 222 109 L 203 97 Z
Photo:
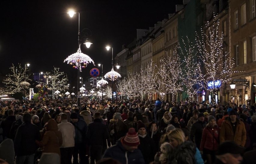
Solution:
M 256 163 L 255 106 L 4 101 L 0 163 Z

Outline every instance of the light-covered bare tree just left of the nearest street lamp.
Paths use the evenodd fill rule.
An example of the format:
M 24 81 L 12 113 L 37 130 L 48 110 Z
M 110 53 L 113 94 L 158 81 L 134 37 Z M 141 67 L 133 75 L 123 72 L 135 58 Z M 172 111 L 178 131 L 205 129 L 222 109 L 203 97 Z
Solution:
M 45 72 L 48 78 L 48 87 L 52 89 L 53 93 L 58 91 L 65 91 L 68 89 L 68 78 L 64 72 L 60 72 L 59 68 L 53 67 L 52 72 Z

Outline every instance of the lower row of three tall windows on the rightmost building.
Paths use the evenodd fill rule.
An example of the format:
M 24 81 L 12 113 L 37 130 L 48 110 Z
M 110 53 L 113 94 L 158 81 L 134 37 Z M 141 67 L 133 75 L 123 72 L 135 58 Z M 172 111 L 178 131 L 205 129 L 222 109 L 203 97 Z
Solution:
M 256 61 L 256 36 L 254 37 L 251 37 L 251 46 L 250 46 L 250 49 L 251 49 L 251 54 L 252 54 L 252 61 Z M 247 58 L 248 58 L 248 53 L 247 53 L 247 41 L 244 40 L 242 42 L 242 54 L 243 54 L 243 61 L 242 63 L 243 64 L 246 64 L 248 61 L 247 61 Z M 235 65 L 236 66 L 239 66 L 239 44 L 235 45 L 234 46 L 234 54 L 235 54 Z

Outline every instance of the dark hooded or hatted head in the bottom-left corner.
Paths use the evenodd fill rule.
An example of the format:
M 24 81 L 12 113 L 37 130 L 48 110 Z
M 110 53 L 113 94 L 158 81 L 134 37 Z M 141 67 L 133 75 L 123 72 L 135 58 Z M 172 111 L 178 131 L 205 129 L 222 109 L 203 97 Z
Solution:
M 14 157 L 14 143 L 11 139 L 5 139 L 0 144 L 0 162 L 3 164 L 13 164 Z

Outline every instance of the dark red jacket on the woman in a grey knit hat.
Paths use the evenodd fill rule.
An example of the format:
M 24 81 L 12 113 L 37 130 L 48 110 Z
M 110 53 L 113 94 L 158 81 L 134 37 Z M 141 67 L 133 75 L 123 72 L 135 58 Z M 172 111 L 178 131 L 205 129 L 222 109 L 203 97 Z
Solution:
M 206 148 L 212 151 L 217 150 L 219 146 L 219 135 L 220 135 L 220 128 L 217 125 L 213 128 L 209 126 L 205 127 L 203 129 L 200 150 L 203 150 L 203 148 Z

